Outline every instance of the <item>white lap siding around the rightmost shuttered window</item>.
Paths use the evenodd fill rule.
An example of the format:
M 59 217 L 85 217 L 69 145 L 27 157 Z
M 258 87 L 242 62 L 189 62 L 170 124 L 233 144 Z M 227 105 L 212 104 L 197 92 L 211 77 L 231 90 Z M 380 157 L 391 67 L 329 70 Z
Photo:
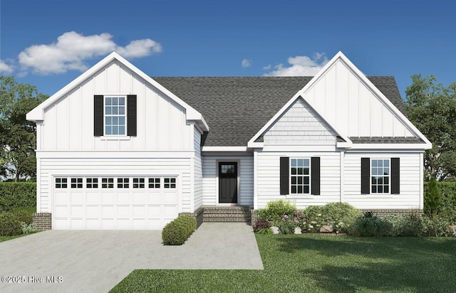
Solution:
M 361 158 L 400 158 L 400 194 L 361 194 Z M 346 153 L 344 201 L 357 208 L 420 208 L 420 154 Z

